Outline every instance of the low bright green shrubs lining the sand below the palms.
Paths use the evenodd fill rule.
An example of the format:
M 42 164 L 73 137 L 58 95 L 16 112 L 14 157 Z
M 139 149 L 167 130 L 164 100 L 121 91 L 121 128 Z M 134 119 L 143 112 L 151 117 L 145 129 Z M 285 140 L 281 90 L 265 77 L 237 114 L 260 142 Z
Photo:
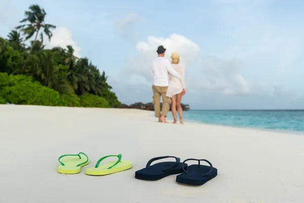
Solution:
M 120 102 L 113 92 L 106 98 L 93 94 L 77 96 L 59 92 L 33 81 L 24 75 L 0 73 L 0 104 L 9 102 L 16 105 L 69 106 L 69 107 L 120 107 Z

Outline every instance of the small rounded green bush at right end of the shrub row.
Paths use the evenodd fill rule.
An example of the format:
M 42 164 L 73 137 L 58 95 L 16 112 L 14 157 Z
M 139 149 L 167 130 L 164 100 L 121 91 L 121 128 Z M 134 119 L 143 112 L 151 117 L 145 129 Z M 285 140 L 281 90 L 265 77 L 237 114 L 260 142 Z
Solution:
M 79 96 L 80 104 L 82 107 L 98 107 L 98 108 L 109 108 L 110 105 L 108 101 L 100 96 L 93 94 L 85 94 Z

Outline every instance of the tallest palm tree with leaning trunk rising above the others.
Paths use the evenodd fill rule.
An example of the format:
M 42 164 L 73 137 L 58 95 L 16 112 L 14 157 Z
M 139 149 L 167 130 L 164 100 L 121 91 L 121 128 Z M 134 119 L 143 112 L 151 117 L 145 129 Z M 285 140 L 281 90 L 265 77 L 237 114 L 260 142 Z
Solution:
M 29 6 L 29 11 L 25 11 L 24 14 L 25 14 L 25 18 L 23 20 L 21 20 L 20 23 L 25 23 L 27 21 L 29 23 L 19 25 L 19 26 L 16 27 L 16 29 L 21 29 L 21 31 L 26 36 L 25 40 L 30 39 L 34 35 L 35 32 L 36 32 L 36 35 L 35 35 L 35 39 L 34 39 L 34 42 L 32 44 L 32 47 L 29 50 L 28 56 L 27 56 L 23 66 L 22 66 L 21 74 L 23 74 L 25 64 L 26 64 L 26 62 L 29 58 L 29 55 L 31 54 L 33 46 L 35 45 L 35 42 L 37 40 L 37 36 L 39 34 L 40 29 L 44 28 L 43 32 L 48 36 L 49 41 L 51 41 L 51 37 L 52 37 L 53 34 L 52 34 L 50 29 L 51 28 L 56 28 L 55 25 L 44 23 L 47 13 L 45 12 L 44 9 L 40 8 L 39 5 Z M 40 33 L 41 41 L 43 41 L 43 32 Z

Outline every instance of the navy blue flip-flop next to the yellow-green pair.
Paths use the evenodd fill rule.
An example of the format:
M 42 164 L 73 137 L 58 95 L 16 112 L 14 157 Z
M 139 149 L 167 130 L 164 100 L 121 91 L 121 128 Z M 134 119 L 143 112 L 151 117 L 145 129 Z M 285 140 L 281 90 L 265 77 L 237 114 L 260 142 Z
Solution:
M 174 161 L 159 162 L 151 165 L 153 161 L 164 159 L 164 158 L 175 158 Z M 181 163 L 180 158 L 175 156 L 160 156 L 150 159 L 145 168 L 135 172 L 135 178 L 141 180 L 156 181 L 165 178 L 170 175 L 183 173 L 187 168 L 186 163 Z

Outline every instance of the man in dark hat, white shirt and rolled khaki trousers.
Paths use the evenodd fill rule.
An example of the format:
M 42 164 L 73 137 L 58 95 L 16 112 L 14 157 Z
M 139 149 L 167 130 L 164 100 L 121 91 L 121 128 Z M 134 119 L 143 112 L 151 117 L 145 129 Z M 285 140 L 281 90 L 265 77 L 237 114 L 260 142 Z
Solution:
M 166 49 L 159 46 L 157 49 L 158 57 L 155 58 L 150 67 L 151 75 L 153 78 L 153 105 L 155 117 L 159 118 L 159 122 L 168 123 L 166 120 L 167 114 L 170 109 L 171 99 L 166 96 L 169 77 L 168 73 L 172 76 L 181 79 L 181 76 L 173 69 L 168 59 L 164 58 Z M 163 98 L 163 107 L 161 114 L 161 96 Z

